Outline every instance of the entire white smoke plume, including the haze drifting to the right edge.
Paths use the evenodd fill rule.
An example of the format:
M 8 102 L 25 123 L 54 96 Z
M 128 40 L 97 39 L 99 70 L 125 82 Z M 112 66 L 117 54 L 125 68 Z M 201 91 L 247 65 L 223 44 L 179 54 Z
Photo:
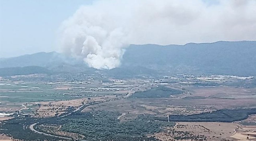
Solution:
M 129 44 L 256 40 L 255 13 L 255 0 L 94 1 L 62 23 L 59 43 L 90 67 L 112 69 Z

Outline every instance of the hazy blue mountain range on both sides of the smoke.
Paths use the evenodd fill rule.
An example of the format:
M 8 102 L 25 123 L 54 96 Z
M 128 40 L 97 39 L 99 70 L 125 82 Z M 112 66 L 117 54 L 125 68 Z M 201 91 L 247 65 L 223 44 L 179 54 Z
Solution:
M 256 75 L 256 41 L 130 45 L 121 62 L 119 68 L 102 72 L 111 76 L 176 73 Z M 96 70 L 57 52 L 39 52 L 0 59 L 0 75 L 2 68 L 26 66 L 40 66 L 58 73 L 91 73 Z

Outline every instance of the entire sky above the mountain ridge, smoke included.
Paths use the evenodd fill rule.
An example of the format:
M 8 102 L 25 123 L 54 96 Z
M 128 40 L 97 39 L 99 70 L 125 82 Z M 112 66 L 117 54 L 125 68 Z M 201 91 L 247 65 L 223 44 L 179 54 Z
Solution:
M 256 40 L 255 0 L 0 2 L 0 58 L 62 48 L 111 68 L 95 62 L 118 65 L 129 44 Z

